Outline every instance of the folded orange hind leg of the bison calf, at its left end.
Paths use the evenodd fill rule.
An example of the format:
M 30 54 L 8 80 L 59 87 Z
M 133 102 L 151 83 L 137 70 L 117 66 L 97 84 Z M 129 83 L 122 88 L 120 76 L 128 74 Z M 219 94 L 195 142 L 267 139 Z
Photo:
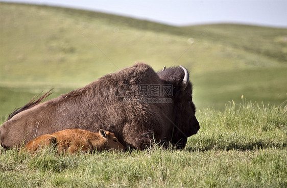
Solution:
M 56 143 L 57 143 L 56 137 L 52 135 L 42 135 L 28 142 L 25 146 L 25 149 L 31 152 L 35 152 L 41 147 L 46 147 L 46 146 L 49 146 L 51 144 L 56 144 Z

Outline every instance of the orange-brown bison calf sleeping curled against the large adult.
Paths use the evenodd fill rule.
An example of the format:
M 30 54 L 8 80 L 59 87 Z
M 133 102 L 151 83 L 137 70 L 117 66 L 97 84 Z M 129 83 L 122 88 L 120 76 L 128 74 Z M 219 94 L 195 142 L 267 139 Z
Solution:
M 55 145 L 58 152 L 77 153 L 103 151 L 109 149 L 124 150 L 113 133 L 99 130 L 99 133 L 82 129 L 65 129 L 50 135 L 42 135 L 26 144 L 25 149 L 35 152 L 41 147 Z

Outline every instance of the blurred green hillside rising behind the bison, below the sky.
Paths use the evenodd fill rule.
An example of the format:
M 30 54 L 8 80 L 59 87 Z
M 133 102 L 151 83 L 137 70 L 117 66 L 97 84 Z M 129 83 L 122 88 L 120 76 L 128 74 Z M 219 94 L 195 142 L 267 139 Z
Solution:
M 104 13 L 0 3 L 0 116 L 41 91 L 51 97 L 146 62 L 183 65 L 198 109 L 230 100 L 287 97 L 287 29 L 214 24 L 175 27 Z

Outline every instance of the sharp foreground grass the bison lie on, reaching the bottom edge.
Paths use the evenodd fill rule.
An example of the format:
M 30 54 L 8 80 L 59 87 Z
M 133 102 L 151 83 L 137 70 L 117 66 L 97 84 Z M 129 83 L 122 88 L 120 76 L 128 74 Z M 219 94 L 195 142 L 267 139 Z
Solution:
M 201 129 L 182 150 L 35 155 L 4 151 L 2 187 L 285 187 L 287 107 L 230 102 L 198 112 Z

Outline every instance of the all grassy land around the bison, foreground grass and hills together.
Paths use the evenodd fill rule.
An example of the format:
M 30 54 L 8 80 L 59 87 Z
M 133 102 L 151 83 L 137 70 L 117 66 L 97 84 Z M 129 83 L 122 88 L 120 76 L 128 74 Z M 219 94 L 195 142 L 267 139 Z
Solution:
M 287 29 L 175 27 L 6 3 L 0 19 L 1 124 L 42 91 L 55 88 L 54 98 L 142 61 L 188 68 L 201 125 L 183 150 L 74 156 L 1 148 L 1 187 L 287 186 Z

